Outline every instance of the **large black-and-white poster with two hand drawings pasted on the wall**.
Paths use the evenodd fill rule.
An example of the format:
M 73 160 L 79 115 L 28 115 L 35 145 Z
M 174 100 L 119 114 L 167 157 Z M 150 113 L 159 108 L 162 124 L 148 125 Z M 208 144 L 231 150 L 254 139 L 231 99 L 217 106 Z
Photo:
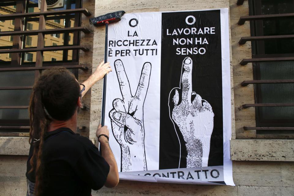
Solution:
M 109 25 L 105 125 L 120 179 L 234 185 L 228 9 Z

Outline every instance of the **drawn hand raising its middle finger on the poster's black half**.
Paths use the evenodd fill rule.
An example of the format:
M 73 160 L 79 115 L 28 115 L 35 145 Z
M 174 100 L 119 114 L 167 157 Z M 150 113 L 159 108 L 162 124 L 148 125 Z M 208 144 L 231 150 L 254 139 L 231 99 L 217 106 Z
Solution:
M 175 130 L 185 141 L 187 168 L 208 165 L 214 117 L 211 105 L 192 92 L 192 65 L 192 59 L 186 57 L 182 65 L 180 88 L 171 90 L 168 102 Z

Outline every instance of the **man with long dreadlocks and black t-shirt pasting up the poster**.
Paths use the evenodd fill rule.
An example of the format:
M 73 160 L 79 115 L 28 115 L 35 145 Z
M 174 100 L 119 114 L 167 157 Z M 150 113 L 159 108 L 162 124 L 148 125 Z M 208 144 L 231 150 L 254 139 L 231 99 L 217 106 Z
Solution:
M 36 80 L 29 105 L 27 196 L 90 196 L 91 189 L 118 184 L 107 127 L 100 124 L 96 131 L 102 156 L 88 138 L 75 134 L 81 98 L 110 71 L 101 62 L 82 84 L 65 68 L 47 69 Z

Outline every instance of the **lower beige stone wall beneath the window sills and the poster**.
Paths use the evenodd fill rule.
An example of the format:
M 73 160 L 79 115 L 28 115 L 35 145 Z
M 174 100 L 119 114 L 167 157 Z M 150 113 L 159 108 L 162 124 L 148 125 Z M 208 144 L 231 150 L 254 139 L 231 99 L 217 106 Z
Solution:
M 26 194 L 27 156 L 0 155 L 0 196 Z M 92 191 L 92 196 L 291 196 L 294 164 L 281 161 L 233 161 L 236 184 L 188 185 L 120 181 L 115 188 Z

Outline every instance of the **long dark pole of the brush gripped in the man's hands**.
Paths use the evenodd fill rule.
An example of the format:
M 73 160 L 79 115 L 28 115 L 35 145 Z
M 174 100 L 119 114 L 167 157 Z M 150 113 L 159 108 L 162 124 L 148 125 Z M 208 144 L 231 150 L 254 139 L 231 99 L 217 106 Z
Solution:
M 105 22 L 105 51 L 104 51 L 104 63 L 107 63 L 107 44 L 108 43 L 108 21 Z M 101 111 L 101 125 L 104 126 L 104 118 L 105 118 L 105 102 L 106 102 L 106 80 L 107 74 L 103 77 L 103 93 L 102 93 L 102 111 Z M 99 143 L 99 152 L 102 155 L 101 145 Z

